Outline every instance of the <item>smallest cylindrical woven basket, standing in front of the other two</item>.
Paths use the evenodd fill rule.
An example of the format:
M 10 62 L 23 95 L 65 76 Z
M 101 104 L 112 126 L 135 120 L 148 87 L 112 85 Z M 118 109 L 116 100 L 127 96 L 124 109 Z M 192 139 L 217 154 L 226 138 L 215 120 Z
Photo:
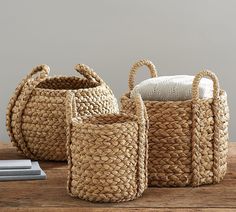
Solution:
M 68 193 L 95 202 L 123 202 L 147 187 L 147 121 L 141 96 L 136 115 L 77 117 L 68 93 Z M 71 112 L 72 111 L 72 112 Z

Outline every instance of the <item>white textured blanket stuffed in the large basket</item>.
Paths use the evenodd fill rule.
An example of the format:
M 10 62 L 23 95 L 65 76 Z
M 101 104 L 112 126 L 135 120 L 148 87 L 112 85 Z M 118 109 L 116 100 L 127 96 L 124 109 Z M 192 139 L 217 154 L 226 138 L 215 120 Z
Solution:
M 131 91 L 131 97 L 140 93 L 143 100 L 178 101 L 192 98 L 194 76 L 161 76 L 142 81 Z M 199 84 L 200 98 L 211 98 L 213 82 L 203 78 Z

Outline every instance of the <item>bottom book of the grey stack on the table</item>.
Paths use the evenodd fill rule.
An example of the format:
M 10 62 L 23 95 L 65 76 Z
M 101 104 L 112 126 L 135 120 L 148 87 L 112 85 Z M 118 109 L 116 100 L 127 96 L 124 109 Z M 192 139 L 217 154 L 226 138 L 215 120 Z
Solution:
M 40 167 L 39 167 L 40 168 Z M 15 176 L 0 176 L 0 181 L 18 181 L 18 180 L 45 180 L 46 174 L 40 168 L 40 174 L 38 175 L 15 175 Z

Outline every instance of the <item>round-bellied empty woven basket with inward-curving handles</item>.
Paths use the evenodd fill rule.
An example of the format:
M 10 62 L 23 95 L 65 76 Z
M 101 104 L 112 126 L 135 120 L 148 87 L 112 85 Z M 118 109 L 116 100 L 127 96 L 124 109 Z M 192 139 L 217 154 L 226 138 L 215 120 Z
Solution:
M 41 65 L 22 80 L 7 110 L 12 143 L 31 159 L 63 161 L 66 156 L 66 92 L 76 96 L 78 114 L 118 112 L 117 101 L 104 81 L 86 65 L 75 69 L 85 78 L 48 77 Z

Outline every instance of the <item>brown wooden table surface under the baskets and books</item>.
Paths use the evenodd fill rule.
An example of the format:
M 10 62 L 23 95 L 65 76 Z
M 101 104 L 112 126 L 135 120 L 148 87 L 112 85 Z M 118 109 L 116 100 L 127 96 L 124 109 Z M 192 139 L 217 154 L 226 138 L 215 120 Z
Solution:
M 0 182 L 0 211 L 236 211 L 236 143 L 229 146 L 228 172 L 220 184 L 148 188 L 137 200 L 115 204 L 70 197 L 66 192 L 66 163 L 40 162 L 47 180 Z M 0 143 L 0 159 L 20 158 L 24 157 L 10 144 Z

